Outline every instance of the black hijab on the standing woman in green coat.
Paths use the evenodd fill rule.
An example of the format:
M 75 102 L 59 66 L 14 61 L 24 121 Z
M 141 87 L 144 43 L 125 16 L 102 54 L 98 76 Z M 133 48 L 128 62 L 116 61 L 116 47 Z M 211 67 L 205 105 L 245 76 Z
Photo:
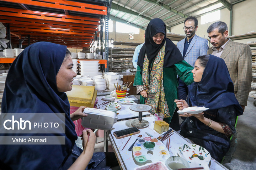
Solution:
M 161 44 L 156 44 L 153 40 L 153 36 L 158 33 L 165 34 L 165 37 L 162 40 Z M 140 66 L 140 68 L 143 68 L 145 54 L 148 57 L 148 60 L 150 63 L 149 66 L 151 66 L 151 63 L 155 60 L 156 55 L 158 54 L 162 46 L 165 44 L 165 41 L 166 41 L 166 46 L 165 46 L 164 68 L 170 67 L 184 60 L 180 53 L 180 50 L 178 50 L 176 45 L 170 39 L 166 38 L 166 26 L 164 21 L 162 21 L 162 19 L 159 19 L 159 18 L 154 18 L 149 22 L 148 27 L 146 28 L 145 44 L 142 46 L 139 52 L 138 63 L 137 63 L 138 66 Z

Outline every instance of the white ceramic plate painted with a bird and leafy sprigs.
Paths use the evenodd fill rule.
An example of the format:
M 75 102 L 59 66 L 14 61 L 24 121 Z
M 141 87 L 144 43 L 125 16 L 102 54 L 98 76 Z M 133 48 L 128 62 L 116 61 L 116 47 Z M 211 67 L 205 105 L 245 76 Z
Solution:
M 178 148 L 178 156 L 186 159 L 190 164 L 190 168 L 203 166 L 209 170 L 210 153 L 202 146 L 188 143 Z

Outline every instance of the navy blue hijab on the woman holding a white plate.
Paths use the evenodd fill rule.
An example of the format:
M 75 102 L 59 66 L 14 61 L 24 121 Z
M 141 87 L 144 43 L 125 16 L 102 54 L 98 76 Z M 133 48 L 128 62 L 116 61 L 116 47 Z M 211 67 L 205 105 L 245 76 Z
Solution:
M 202 80 L 188 86 L 189 106 L 206 107 L 211 110 L 234 106 L 236 116 L 243 109 L 234 95 L 234 84 L 222 58 L 210 55 L 204 68 Z

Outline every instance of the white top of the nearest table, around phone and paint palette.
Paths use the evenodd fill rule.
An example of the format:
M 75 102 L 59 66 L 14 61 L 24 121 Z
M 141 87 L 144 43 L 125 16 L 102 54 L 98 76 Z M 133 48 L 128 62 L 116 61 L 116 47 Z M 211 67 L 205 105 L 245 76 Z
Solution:
M 145 129 L 139 129 L 140 133 L 136 134 L 136 135 L 132 135 L 131 138 L 129 136 L 129 137 L 117 139 L 116 137 L 114 137 L 113 132 L 117 131 L 117 130 L 122 130 L 122 129 L 132 127 L 130 124 L 131 124 L 131 121 L 134 119 L 119 121 L 114 124 L 114 126 L 113 126 L 114 129 L 112 129 L 111 131 L 108 131 L 110 141 L 112 143 L 112 147 L 114 149 L 114 152 L 116 153 L 116 156 L 119 161 L 119 165 L 120 165 L 121 169 L 133 170 L 134 168 L 137 168 L 138 166 L 144 165 L 144 164 L 140 164 L 140 163 L 135 164 L 135 162 L 133 160 L 133 156 L 132 156 L 132 151 L 128 151 L 129 147 L 134 143 L 134 141 L 136 140 L 136 138 L 139 135 L 142 135 L 142 137 L 146 137 L 148 135 L 146 135 L 145 132 L 148 132 L 150 135 L 154 136 L 155 138 L 160 136 L 160 134 L 158 134 L 158 132 L 153 130 L 154 129 L 154 124 L 153 124 L 154 117 L 153 116 L 143 117 L 143 119 L 149 121 L 149 127 L 145 128 Z M 126 144 L 126 142 L 128 141 L 129 138 L 130 138 L 129 142 L 124 147 L 124 145 Z M 166 145 L 166 140 L 163 141 L 163 143 Z M 185 138 L 183 138 L 181 135 L 174 132 L 174 134 L 171 135 L 171 138 L 170 138 L 170 148 L 169 148 L 170 156 L 177 155 L 177 152 L 178 152 L 177 148 L 185 143 L 189 143 L 189 142 L 186 141 Z M 124 149 L 123 149 L 123 147 L 124 147 Z M 122 149 L 123 149 L 123 151 L 122 151 Z M 210 170 L 223 170 L 223 169 L 228 170 L 223 165 L 221 165 L 220 163 L 218 163 L 217 161 L 215 161 L 212 158 Z

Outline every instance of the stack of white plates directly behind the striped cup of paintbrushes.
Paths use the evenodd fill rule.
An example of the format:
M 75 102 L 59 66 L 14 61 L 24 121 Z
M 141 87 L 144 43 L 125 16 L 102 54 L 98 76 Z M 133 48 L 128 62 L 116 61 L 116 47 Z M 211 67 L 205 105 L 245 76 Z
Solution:
M 104 77 L 107 79 L 107 87 L 109 90 L 115 90 L 114 84 L 117 86 L 123 84 L 123 75 L 117 73 L 105 73 Z

